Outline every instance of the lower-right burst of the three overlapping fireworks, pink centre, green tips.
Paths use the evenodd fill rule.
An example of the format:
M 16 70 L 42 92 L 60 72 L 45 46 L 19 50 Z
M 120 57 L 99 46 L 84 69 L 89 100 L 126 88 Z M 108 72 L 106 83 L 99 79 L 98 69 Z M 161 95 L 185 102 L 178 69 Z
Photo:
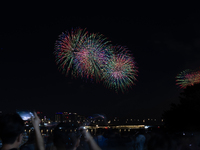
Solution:
M 113 47 L 116 53 L 108 60 L 103 69 L 104 84 L 116 92 L 124 92 L 134 85 L 138 73 L 133 57 L 121 46 Z

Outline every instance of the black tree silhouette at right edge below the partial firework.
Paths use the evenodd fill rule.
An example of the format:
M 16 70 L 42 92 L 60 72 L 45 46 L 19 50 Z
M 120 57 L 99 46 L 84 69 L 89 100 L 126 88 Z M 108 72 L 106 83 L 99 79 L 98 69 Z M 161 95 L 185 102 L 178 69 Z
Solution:
M 200 84 L 188 86 L 180 93 L 180 103 L 171 104 L 163 113 L 163 119 L 170 131 L 194 131 L 199 129 Z

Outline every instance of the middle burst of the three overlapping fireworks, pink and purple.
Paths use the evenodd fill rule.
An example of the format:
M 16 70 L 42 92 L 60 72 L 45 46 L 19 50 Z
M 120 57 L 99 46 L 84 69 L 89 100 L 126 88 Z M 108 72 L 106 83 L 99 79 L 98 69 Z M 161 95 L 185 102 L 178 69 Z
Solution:
M 101 34 L 90 34 L 76 52 L 76 70 L 87 79 L 101 79 L 101 70 L 109 58 L 109 41 Z

